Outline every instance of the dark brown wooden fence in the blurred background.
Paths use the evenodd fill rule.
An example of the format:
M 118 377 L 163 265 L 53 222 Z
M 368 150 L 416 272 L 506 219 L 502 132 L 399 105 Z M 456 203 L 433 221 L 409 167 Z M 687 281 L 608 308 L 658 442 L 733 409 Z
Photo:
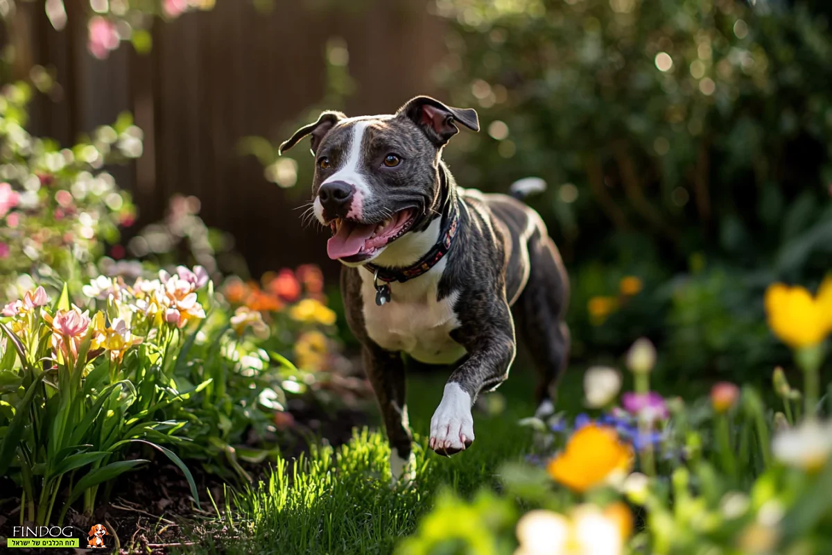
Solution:
M 445 32 L 427 2 L 275 0 L 263 14 L 251 0 L 217 0 L 213 11 L 157 22 L 150 54 L 122 44 L 105 61 L 87 52 L 87 0 L 67 0 L 60 32 L 42 1 L 19 2 L 16 32 L 26 48 L 18 59 L 54 67 L 61 84 L 57 102 L 35 102 L 32 130 L 70 144 L 132 111 L 146 132 L 144 155 L 114 173 L 134 195 L 139 225 L 158 220 L 171 195 L 195 195 L 206 223 L 235 236 L 255 274 L 309 261 L 334 270 L 326 235 L 301 229 L 295 208 L 305 198 L 265 181 L 260 163 L 240 155 L 240 139 L 280 141 L 287 122 L 319 102 L 324 45 L 333 36 L 349 48 L 357 85 L 348 113 L 392 111 L 435 93 L 430 74 Z

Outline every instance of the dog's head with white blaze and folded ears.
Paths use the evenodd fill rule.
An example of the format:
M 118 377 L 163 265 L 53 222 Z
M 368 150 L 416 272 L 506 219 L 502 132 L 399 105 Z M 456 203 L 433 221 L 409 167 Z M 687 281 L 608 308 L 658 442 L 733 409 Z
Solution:
M 439 159 L 456 122 L 479 131 L 476 111 L 416 97 L 393 115 L 324 111 L 280 145 L 282 154 L 312 136 L 313 208 L 334 233 L 329 258 L 362 265 L 438 216 Z

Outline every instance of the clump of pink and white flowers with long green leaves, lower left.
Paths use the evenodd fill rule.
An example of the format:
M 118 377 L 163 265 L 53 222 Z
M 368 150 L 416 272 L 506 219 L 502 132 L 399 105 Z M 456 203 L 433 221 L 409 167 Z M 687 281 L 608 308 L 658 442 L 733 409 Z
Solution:
M 67 483 L 61 518 L 81 496 L 92 513 L 99 483 L 146 462 L 125 458 L 137 443 L 165 453 L 189 479 L 179 456 L 207 460 L 220 473 L 230 466 L 250 479 L 241 460 L 280 453 L 275 412 L 285 410 L 287 393 L 314 383 L 315 373 L 329 368 L 324 360 L 339 361 L 324 334 L 334 314 L 319 298 L 303 298 L 294 273 L 282 275 L 297 284 L 287 308 L 297 330 L 285 320 L 265 325 L 247 307 L 241 320 L 240 309 L 234 314 L 215 300 L 200 266 L 132 285 L 100 276 L 75 299 L 80 308 L 70 305 L 66 287 L 52 308 L 42 288 L 9 303 L 0 349 L 0 473 L 22 488 L 22 518 L 52 522 Z M 312 311 L 305 308 L 310 302 Z M 323 343 L 299 350 L 310 335 Z M 306 370 L 288 361 L 295 355 Z M 246 433 L 259 447 L 247 444 Z M 198 498 L 192 480 L 191 490 Z

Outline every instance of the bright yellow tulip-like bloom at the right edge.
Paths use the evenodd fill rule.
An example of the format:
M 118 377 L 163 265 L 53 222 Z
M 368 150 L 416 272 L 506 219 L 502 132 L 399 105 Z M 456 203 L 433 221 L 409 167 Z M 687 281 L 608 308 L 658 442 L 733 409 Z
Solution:
M 832 330 L 832 284 L 827 279 L 817 298 L 804 287 L 781 283 L 765 290 L 765 312 L 774 334 L 794 349 L 820 344 Z

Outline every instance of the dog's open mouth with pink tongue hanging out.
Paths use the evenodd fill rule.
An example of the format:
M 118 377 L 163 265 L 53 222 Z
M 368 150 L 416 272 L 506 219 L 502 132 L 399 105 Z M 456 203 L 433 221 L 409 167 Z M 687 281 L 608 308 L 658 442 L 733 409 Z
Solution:
M 410 208 L 396 212 L 387 220 L 376 224 L 337 218 L 329 224 L 334 235 L 326 244 L 326 253 L 332 260 L 367 260 L 384 245 L 389 245 L 407 233 L 414 220 L 414 211 Z

